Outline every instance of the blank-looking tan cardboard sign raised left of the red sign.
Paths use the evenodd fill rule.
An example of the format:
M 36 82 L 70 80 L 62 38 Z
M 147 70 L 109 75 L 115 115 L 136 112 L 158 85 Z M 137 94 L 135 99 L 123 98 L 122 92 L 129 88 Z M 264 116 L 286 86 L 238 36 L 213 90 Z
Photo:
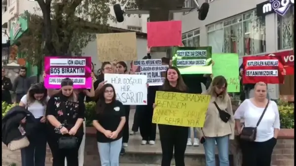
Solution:
M 136 33 L 97 34 L 97 50 L 101 62 L 137 60 Z

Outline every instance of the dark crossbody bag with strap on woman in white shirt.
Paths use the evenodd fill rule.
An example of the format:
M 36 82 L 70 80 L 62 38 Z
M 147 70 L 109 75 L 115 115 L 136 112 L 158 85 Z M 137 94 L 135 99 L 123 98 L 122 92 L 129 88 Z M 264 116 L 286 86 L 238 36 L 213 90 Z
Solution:
M 242 140 L 246 140 L 246 141 L 250 141 L 250 142 L 253 142 L 256 140 L 256 136 L 257 136 L 257 127 L 259 126 L 265 112 L 266 112 L 266 109 L 268 107 L 268 104 L 269 104 L 269 100 L 267 101 L 267 104 L 259 118 L 259 121 L 257 122 L 257 125 L 256 127 L 243 127 L 243 130 L 241 131 L 239 137 L 242 139 Z

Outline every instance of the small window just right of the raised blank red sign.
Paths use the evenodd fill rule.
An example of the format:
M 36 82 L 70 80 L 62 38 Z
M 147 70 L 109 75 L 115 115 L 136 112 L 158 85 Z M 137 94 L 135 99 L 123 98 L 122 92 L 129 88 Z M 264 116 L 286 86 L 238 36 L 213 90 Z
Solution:
M 183 33 L 182 42 L 186 47 L 199 47 L 199 29 Z

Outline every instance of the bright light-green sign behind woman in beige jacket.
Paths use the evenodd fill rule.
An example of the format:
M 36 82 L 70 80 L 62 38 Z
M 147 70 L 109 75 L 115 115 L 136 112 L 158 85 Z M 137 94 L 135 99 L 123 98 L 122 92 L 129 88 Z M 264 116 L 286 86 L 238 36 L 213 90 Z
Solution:
M 239 92 L 238 54 L 213 54 L 212 59 L 215 62 L 212 68 L 213 77 L 224 76 L 227 79 L 227 92 Z

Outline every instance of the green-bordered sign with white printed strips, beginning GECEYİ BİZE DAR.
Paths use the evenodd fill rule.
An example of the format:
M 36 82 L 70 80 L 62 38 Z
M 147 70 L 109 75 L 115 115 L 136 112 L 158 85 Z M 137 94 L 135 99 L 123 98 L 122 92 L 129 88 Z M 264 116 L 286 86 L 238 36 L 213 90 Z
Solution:
M 172 61 L 181 74 L 211 74 L 212 47 L 174 47 Z

